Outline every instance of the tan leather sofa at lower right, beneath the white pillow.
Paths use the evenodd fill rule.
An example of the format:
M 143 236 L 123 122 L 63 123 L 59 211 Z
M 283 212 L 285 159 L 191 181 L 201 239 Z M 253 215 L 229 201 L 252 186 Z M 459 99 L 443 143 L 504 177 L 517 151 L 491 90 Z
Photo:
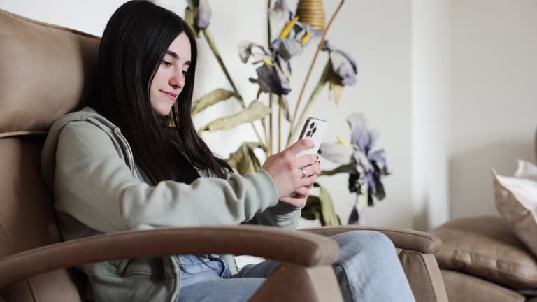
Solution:
M 537 257 L 503 218 L 451 220 L 430 233 L 443 243 L 436 259 L 450 301 L 537 302 Z

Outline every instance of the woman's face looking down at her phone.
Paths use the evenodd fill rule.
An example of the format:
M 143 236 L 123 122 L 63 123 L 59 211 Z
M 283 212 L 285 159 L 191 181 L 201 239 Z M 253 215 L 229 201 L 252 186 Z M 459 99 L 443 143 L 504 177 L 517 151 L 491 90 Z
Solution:
M 185 86 L 190 57 L 190 41 L 182 32 L 169 46 L 149 87 L 151 106 L 158 116 L 170 113 Z

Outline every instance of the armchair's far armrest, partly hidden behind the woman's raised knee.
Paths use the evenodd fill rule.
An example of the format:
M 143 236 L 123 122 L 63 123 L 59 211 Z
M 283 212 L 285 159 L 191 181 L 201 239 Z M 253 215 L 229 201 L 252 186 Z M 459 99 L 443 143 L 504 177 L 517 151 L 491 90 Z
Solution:
M 355 225 L 301 229 L 301 231 L 308 231 L 324 236 L 331 236 L 336 235 L 336 233 L 354 230 L 370 230 L 384 233 L 386 236 L 388 236 L 390 240 L 392 240 L 395 247 L 403 250 L 415 250 L 422 254 L 434 254 L 434 252 L 440 249 L 442 245 L 440 238 L 438 238 L 437 236 L 430 233 L 424 233 L 422 231 L 414 231 L 410 229 L 366 227 Z

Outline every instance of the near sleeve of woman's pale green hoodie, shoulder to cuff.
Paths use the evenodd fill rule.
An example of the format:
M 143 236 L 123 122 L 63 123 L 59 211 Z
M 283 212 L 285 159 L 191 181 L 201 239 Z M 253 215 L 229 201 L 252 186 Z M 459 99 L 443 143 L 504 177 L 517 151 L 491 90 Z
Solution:
M 59 134 L 56 208 L 98 231 L 239 224 L 275 206 L 278 189 L 266 171 L 190 185 L 134 178 L 112 138 L 89 122 L 70 122 Z

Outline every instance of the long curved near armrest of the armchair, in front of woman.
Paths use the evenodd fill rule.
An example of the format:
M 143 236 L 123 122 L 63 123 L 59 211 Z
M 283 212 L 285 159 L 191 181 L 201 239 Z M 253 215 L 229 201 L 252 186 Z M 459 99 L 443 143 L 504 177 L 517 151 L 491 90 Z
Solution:
M 0 289 L 33 275 L 112 259 L 171 254 L 251 254 L 301 266 L 334 263 L 339 247 L 313 233 L 226 226 L 121 231 L 38 247 L 0 259 Z

